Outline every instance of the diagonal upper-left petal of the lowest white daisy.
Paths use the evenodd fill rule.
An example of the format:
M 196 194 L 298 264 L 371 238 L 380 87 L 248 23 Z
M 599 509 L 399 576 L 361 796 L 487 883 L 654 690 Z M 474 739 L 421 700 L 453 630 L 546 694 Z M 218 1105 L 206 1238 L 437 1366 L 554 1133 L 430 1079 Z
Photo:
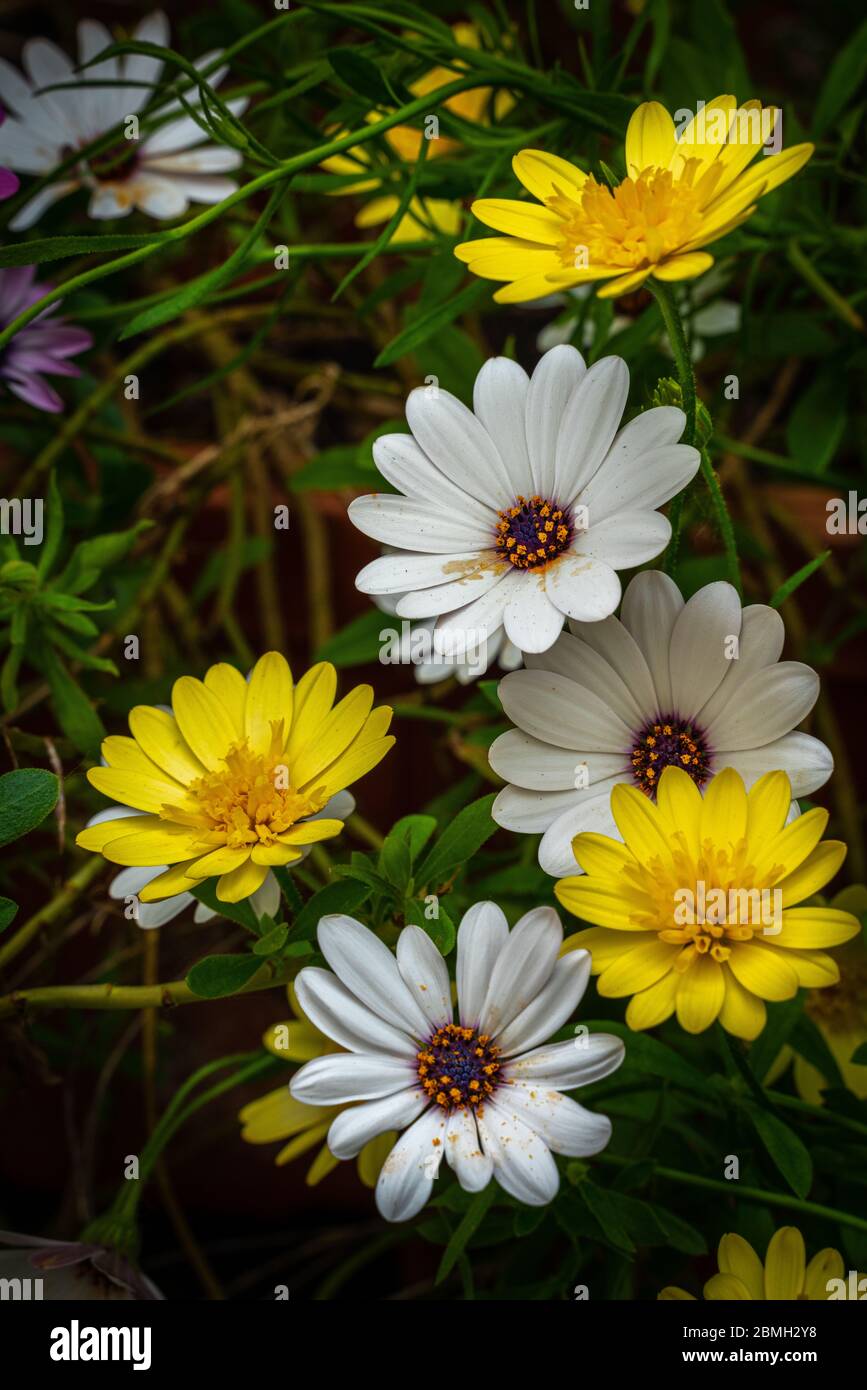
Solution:
M 411 1037 L 428 1036 L 428 1020 L 379 937 L 340 915 L 321 917 L 317 938 L 331 969 L 368 1009 Z

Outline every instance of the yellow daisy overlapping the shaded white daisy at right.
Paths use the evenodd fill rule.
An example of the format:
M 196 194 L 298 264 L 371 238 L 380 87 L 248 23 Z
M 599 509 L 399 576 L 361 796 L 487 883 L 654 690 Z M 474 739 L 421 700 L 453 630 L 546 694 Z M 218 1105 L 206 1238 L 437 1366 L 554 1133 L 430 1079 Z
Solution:
M 764 999 L 836 984 L 827 948 L 860 924 L 850 912 L 796 903 L 834 877 L 846 847 L 821 842 L 828 812 L 818 806 L 786 824 L 791 802 L 781 771 L 748 792 L 727 767 L 702 795 L 688 773 L 667 767 L 656 805 L 638 787 L 611 791 L 624 844 L 575 835 L 585 874 L 561 878 L 554 892 L 595 926 L 568 947 L 592 952 L 600 995 L 632 995 L 631 1029 L 677 1013 L 688 1033 L 720 1019 L 735 1037 L 754 1038 Z

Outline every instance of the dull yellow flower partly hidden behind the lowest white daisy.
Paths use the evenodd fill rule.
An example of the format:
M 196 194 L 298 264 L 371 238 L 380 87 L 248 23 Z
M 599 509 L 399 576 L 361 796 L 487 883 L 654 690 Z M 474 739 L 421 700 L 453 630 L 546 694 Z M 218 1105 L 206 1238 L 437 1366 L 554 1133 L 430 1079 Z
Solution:
M 263 1042 L 274 1056 L 283 1062 L 310 1062 L 314 1056 L 325 1052 L 342 1052 L 343 1048 L 332 1042 L 329 1037 L 311 1023 L 300 1004 L 295 988 L 289 986 L 289 1006 L 295 1017 L 286 1023 L 275 1023 L 265 1033 Z M 240 1137 L 247 1144 L 274 1144 L 276 1140 L 289 1140 L 274 1159 L 278 1166 L 290 1163 L 295 1158 L 321 1144 L 311 1166 L 307 1169 L 306 1183 L 315 1187 L 340 1162 L 333 1156 L 325 1137 L 331 1129 L 331 1122 L 346 1109 L 346 1105 L 307 1105 L 296 1101 L 289 1094 L 288 1086 L 281 1086 L 276 1091 L 268 1091 L 257 1101 L 250 1101 L 239 1113 L 243 1125 Z M 395 1147 L 396 1134 L 389 1131 L 378 1134 L 370 1140 L 356 1159 L 358 1177 L 365 1187 L 375 1187 L 389 1152 Z

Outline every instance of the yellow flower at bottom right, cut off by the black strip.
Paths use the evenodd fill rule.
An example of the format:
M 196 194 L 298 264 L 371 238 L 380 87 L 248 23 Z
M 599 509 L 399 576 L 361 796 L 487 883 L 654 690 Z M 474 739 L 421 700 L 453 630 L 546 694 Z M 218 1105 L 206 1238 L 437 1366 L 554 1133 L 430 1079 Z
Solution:
M 795 1226 L 781 1226 L 770 1241 L 764 1265 L 742 1236 L 724 1236 L 717 1251 L 720 1272 L 711 1275 L 704 1284 L 704 1298 L 711 1301 L 756 1301 L 756 1302 L 827 1302 L 841 1298 L 839 1284 L 845 1283 L 843 1259 L 836 1250 L 820 1250 L 807 1264 L 803 1236 Z M 689 1300 L 685 1289 L 670 1286 L 659 1294 L 663 1302 Z

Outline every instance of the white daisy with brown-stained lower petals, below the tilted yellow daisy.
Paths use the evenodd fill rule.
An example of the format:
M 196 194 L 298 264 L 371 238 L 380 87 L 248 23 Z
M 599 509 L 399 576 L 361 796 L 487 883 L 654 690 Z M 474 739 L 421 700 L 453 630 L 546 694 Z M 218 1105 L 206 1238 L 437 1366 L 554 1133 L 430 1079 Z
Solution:
M 622 430 L 629 373 L 620 357 L 588 370 L 574 348 L 546 353 L 532 379 L 493 357 L 475 379 L 474 410 L 447 391 L 410 393 L 411 435 L 374 443 L 400 496 L 349 507 L 383 555 L 356 580 L 364 594 L 402 594 L 400 617 L 438 617 L 460 639 L 500 630 L 522 652 L 545 652 L 565 617 L 596 623 L 620 600 L 617 570 L 668 542 L 656 510 L 699 467 L 678 445 L 684 413 L 660 406 Z

